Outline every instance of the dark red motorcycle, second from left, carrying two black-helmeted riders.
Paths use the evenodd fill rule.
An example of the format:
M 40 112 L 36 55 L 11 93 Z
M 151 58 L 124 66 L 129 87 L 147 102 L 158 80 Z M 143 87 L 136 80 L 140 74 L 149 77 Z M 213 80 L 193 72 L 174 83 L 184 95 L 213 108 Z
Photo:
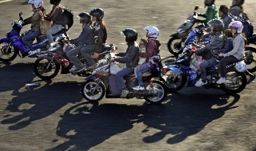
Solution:
M 63 51 L 65 43 L 64 39 L 69 39 L 66 34 L 59 35 L 55 40 L 55 45 L 50 47 L 45 53 L 39 55 L 34 64 L 34 72 L 37 77 L 42 80 L 50 80 L 58 74 L 61 69 L 61 74 L 68 74 L 69 69 L 73 66 L 73 63 L 68 59 L 66 52 Z M 112 50 L 116 50 L 117 47 L 114 44 L 107 45 L 102 48 L 102 51 L 99 52 L 100 60 L 104 58 L 107 53 L 110 53 Z M 92 56 L 93 57 L 93 56 Z M 78 58 L 81 62 L 85 63 L 85 58 L 79 54 Z M 96 60 L 96 61 L 97 61 Z M 86 63 L 85 63 L 86 66 Z M 80 77 L 87 77 L 91 75 L 90 71 L 80 71 L 78 73 L 72 73 L 73 75 L 78 75 Z

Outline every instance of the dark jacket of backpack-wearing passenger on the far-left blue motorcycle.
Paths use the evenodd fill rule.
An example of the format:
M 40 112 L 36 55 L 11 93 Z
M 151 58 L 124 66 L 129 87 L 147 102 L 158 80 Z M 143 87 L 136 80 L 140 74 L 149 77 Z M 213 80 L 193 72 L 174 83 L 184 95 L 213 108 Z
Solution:
M 50 14 L 47 14 L 45 18 L 48 21 L 52 21 L 52 25 L 63 25 L 62 10 L 58 5 L 54 5 Z

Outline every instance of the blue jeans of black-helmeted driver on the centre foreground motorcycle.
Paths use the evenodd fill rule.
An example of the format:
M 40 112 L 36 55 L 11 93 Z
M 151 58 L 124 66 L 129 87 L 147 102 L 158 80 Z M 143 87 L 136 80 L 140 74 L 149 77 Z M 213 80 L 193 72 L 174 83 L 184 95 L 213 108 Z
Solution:
M 134 68 L 127 67 L 116 73 L 118 89 L 122 90 L 126 88 L 126 83 L 124 82 L 123 76 L 133 72 L 134 72 Z

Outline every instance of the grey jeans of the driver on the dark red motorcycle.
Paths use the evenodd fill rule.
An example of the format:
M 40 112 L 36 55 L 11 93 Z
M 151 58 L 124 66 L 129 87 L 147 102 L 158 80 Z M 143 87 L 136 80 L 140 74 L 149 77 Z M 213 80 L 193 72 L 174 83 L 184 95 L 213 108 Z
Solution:
M 77 58 L 77 54 L 80 54 L 82 48 L 83 46 L 79 46 L 77 48 L 69 50 L 67 53 L 68 58 L 72 61 L 75 68 L 84 66 L 84 63 Z

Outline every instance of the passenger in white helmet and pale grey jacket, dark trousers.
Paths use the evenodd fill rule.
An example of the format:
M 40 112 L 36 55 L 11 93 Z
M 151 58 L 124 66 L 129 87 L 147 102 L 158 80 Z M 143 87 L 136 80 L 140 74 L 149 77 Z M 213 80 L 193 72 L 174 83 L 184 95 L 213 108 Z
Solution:
M 228 27 L 231 28 L 233 34 L 233 49 L 227 53 L 220 53 L 220 57 L 224 57 L 220 60 L 220 73 L 221 78 L 217 80 L 217 84 L 225 83 L 227 64 L 237 62 L 244 56 L 244 37 L 241 32 L 243 31 L 243 24 L 240 21 L 232 21 Z

